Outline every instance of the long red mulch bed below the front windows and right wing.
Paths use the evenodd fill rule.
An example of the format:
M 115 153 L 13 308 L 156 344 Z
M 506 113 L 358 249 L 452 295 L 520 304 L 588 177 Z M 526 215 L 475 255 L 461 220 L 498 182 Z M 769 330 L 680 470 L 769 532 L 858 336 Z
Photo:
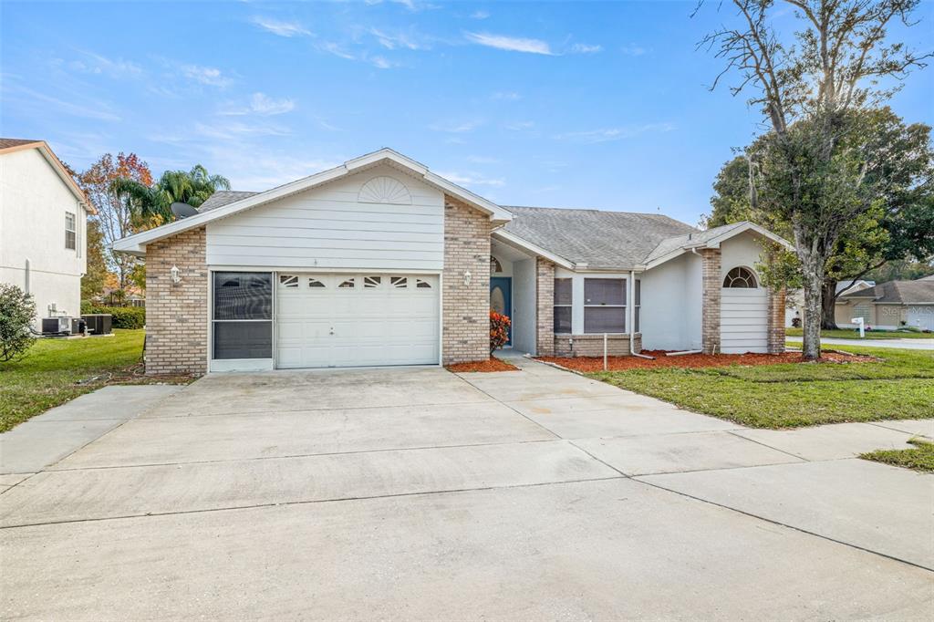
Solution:
M 627 369 L 653 369 L 657 367 L 720 367 L 724 365 L 775 365 L 777 363 L 802 363 L 804 360 L 800 352 L 785 352 L 784 354 L 685 354 L 678 357 L 666 356 L 664 350 L 643 350 L 643 354 L 655 357 L 655 360 L 640 357 L 608 357 L 607 369 L 610 371 Z M 603 371 L 603 357 L 538 357 L 559 364 L 578 372 Z M 843 363 L 866 362 L 875 360 L 872 357 L 848 356 L 835 352 L 824 352 L 819 362 Z

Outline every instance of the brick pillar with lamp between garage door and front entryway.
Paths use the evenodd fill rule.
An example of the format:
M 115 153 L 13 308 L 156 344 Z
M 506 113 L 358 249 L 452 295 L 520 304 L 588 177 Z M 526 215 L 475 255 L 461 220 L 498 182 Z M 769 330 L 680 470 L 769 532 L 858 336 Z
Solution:
M 442 360 L 489 357 L 489 219 L 445 195 Z M 464 273 L 470 272 L 469 284 Z

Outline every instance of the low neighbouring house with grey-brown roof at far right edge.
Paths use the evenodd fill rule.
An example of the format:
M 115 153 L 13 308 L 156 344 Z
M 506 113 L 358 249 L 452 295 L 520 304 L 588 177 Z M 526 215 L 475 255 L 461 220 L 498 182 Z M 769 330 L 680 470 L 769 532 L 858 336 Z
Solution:
M 864 318 L 872 328 L 914 326 L 934 331 L 934 280 L 889 281 L 847 292 L 837 299 L 835 313 L 841 326 Z

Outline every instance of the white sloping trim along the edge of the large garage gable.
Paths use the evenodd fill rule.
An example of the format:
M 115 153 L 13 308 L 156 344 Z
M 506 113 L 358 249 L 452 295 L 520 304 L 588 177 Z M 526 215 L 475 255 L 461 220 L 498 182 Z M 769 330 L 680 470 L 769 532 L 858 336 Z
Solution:
M 493 222 L 502 223 L 513 218 L 512 214 L 503 209 L 500 205 L 496 205 L 495 203 L 492 203 L 487 199 L 474 194 L 474 192 L 461 188 L 457 184 L 448 181 L 444 177 L 432 173 L 424 164 L 417 163 L 415 160 L 403 156 L 403 154 L 397 151 L 393 151 L 390 148 L 381 148 L 378 151 L 368 153 L 364 156 L 361 156 L 360 158 L 348 160 L 346 163 L 343 163 L 340 166 L 335 166 L 334 168 L 327 171 L 322 171 L 309 177 L 303 177 L 301 179 L 291 181 L 290 183 L 277 186 L 272 190 L 256 193 L 233 192 L 233 194 L 246 196 L 232 197 L 230 195 L 225 195 L 219 197 L 218 201 L 214 204 L 209 204 L 210 199 L 208 199 L 208 201 L 205 201 L 205 204 L 209 204 L 207 205 L 207 209 L 204 209 L 204 205 L 202 205 L 203 209 L 199 210 L 197 216 L 190 216 L 187 219 L 175 220 L 174 222 L 169 222 L 168 224 L 164 224 L 154 229 L 149 229 L 148 231 L 129 235 L 121 240 L 118 240 L 113 245 L 113 248 L 114 250 L 120 252 L 126 252 L 134 255 L 143 255 L 146 252 L 146 245 L 151 242 L 155 242 L 156 240 L 161 240 L 164 237 L 169 237 L 171 235 L 176 235 L 177 233 L 189 231 L 190 229 L 203 227 L 205 224 L 213 220 L 233 216 L 233 214 L 251 209 L 258 205 L 271 203 L 283 197 L 290 196 L 291 194 L 316 188 L 336 179 L 340 179 L 341 177 L 347 177 L 348 175 L 359 173 L 362 170 L 373 167 L 380 163 L 389 163 L 403 169 L 412 177 L 416 177 L 420 181 L 424 181 L 428 185 L 433 186 L 438 190 L 444 191 L 447 194 L 460 199 L 460 201 L 463 201 L 467 205 L 471 205 L 481 212 L 486 213 L 489 219 Z M 221 201 L 228 198 L 233 198 L 233 200 L 224 203 L 223 205 L 217 205 Z

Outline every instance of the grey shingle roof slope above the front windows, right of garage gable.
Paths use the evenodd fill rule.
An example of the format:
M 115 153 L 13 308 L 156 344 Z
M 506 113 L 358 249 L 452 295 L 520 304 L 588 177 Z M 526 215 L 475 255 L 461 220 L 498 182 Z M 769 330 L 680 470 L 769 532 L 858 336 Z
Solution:
M 630 269 L 642 264 L 666 238 L 697 232 L 659 214 L 516 205 L 506 209 L 515 218 L 499 231 L 517 236 L 520 244 L 524 240 L 544 248 L 579 269 Z

